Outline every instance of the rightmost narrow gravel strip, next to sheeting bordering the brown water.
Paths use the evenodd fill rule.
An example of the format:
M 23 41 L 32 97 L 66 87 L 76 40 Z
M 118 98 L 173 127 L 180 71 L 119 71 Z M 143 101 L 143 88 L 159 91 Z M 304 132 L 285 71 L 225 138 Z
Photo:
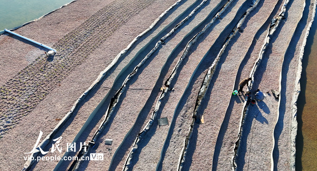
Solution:
M 294 36 L 284 56 L 281 71 L 281 95 L 279 106 L 279 118 L 275 126 L 275 147 L 273 151 L 274 170 L 288 170 L 290 166 L 290 135 L 291 135 L 291 102 L 294 92 L 295 75 L 297 72 L 298 58 L 302 42 L 311 20 L 313 12 L 313 1 L 306 1 L 303 17 L 299 22 Z

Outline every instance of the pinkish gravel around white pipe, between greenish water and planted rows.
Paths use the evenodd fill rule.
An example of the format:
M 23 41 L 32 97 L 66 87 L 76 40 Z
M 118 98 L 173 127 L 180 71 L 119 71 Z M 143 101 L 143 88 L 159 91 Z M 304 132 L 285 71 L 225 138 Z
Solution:
M 114 0 L 79 0 L 51 13 L 41 20 L 20 27 L 14 32 L 43 43 L 44 45 L 53 46 L 63 36 L 80 26 L 96 11 L 112 2 L 114 2 Z M 62 20 L 60 17 L 65 14 L 67 14 L 67 20 Z M 43 34 L 44 30 L 45 34 Z M 63 30 L 63 32 L 60 30 Z M 0 36 L 1 86 L 7 83 L 10 78 L 15 76 L 16 73 L 24 67 L 34 62 L 39 55 L 43 54 L 44 50 L 42 47 L 22 42 L 17 36 L 13 37 L 14 39 L 7 36 L 7 34 Z

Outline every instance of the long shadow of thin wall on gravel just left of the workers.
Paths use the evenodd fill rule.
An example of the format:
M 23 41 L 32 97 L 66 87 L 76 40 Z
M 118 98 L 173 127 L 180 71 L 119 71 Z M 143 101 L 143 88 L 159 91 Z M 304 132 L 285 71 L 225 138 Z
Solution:
M 247 64 L 248 60 L 250 59 L 250 55 L 251 52 L 253 52 L 255 45 L 257 43 L 257 40 L 260 38 L 260 36 L 266 32 L 266 29 L 268 27 L 268 25 L 271 22 L 271 18 L 274 17 L 274 15 L 277 13 L 277 11 L 279 10 L 279 7 L 282 3 L 282 0 L 279 0 L 278 3 L 276 4 L 275 8 L 272 10 L 271 14 L 268 17 L 268 20 L 262 25 L 262 27 L 260 27 L 259 31 L 256 33 L 256 35 L 254 36 L 254 39 L 251 43 L 251 46 L 248 49 L 248 52 L 246 53 L 246 56 L 244 57 L 244 59 L 242 60 L 239 69 L 237 71 L 237 75 L 236 75 L 236 81 L 234 84 L 234 89 L 238 88 L 238 84 L 240 82 L 241 79 L 241 73 L 243 71 L 244 66 Z M 260 4 L 259 4 L 260 5 Z M 261 3 L 261 6 L 263 5 L 263 3 Z M 257 7 L 258 8 L 258 7 Z M 259 9 L 256 10 L 256 12 L 258 12 Z M 256 12 L 254 14 L 256 14 Z M 250 15 L 252 16 L 252 15 Z M 218 166 L 218 159 L 219 159 L 219 155 L 220 155 L 220 151 L 223 145 L 223 138 L 225 136 L 225 133 L 228 129 L 228 125 L 229 125 L 229 121 L 230 121 L 230 116 L 235 104 L 235 101 L 237 103 L 241 103 L 242 101 L 244 101 L 243 99 L 237 99 L 237 98 L 231 98 L 227 111 L 225 113 L 224 119 L 223 119 L 223 123 L 221 124 L 220 127 L 220 131 L 217 137 L 217 141 L 216 141 L 216 145 L 215 145 L 215 150 L 214 150 L 214 155 L 213 155 L 213 161 L 212 161 L 212 170 L 216 171 L 217 170 L 217 166 Z

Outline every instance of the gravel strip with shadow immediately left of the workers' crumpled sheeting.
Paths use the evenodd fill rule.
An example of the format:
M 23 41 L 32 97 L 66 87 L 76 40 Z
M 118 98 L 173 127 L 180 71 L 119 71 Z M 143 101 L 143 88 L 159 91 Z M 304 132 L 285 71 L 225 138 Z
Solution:
M 272 4 L 271 9 L 268 9 L 267 13 L 271 13 L 271 16 L 268 18 L 269 22 L 265 23 L 267 27 L 265 27 L 265 24 L 263 25 L 261 30 L 259 30 L 254 37 L 255 40 L 248 47 L 249 50 L 247 51 L 245 58 L 242 60 L 241 67 L 236 75 L 236 81 L 234 84 L 235 89 L 238 89 L 238 84 L 242 79 L 249 77 L 250 71 L 259 56 L 259 52 L 267 35 L 267 30 L 265 29 L 268 28 L 273 16 L 280 11 L 279 8 L 281 8 L 281 4 L 281 0 L 275 1 Z M 213 170 L 228 170 L 228 168 L 230 168 L 230 159 L 233 155 L 234 143 L 238 136 L 238 127 L 241 118 L 241 110 L 243 108 L 243 101 L 244 98 L 240 97 L 233 97 L 230 99 L 217 136 L 212 162 Z

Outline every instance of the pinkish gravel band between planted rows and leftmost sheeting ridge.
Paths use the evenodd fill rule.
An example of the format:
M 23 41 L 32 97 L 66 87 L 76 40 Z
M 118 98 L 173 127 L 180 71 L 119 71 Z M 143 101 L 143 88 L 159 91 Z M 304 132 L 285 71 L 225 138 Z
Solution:
M 155 5 L 152 6 L 152 8 L 150 8 L 150 11 L 158 10 L 155 13 L 157 13 L 159 15 L 165 9 L 167 9 L 172 3 L 173 2 L 164 3 L 165 6 L 162 7 L 161 2 L 159 1 L 159 2 L 155 3 Z M 74 4 L 76 4 L 76 3 L 74 3 Z M 127 5 L 129 5 L 129 4 L 127 4 Z M 148 4 L 144 4 L 144 7 L 146 7 L 146 5 L 148 5 Z M 109 8 L 111 9 L 111 6 L 108 5 L 104 8 L 109 10 Z M 155 10 L 153 10 L 153 9 L 155 9 Z M 135 9 L 135 10 L 138 10 L 138 9 Z M 120 11 L 118 11 L 118 12 L 120 12 Z M 135 11 L 133 11 L 133 10 L 131 10 L 130 12 L 135 14 Z M 144 14 L 152 14 L 152 13 L 146 12 L 146 11 L 143 14 L 141 13 L 137 18 L 134 19 L 133 22 L 131 22 L 129 29 L 125 30 L 126 33 L 131 33 L 132 35 L 125 36 L 125 34 L 122 34 L 122 31 L 120 31 L 121 33 L 119 32 L 117 34 L 120 38 L 117 37 L 113 42 L 116 42 L 118 39 L 120 39 L 122 42 L 121 42 L 120 46 L 113 46 L 112 49 L 109 50 L 109 52 L 111 52 L 111 53 L 108 53 L 110 58 L 111 57 L 113 58 L 118 52 L 120 52 L 123 48 L 125 48 L 127 46 L 127 44 L 129 42 L 131 42 L 131 40 L 136 35 L 138 35 L 143 30 L 145 30 L 145 28 L 147 28 L 158 17 L 158 15 L 150 15 L 149 16 L 149 15 L 144 15 Z M 94 15 L 96 15 L 96 14 L 94 14 Z M 127 18 L 130 18 L 132 16 L 133 15 L 126 15 Z M 120 16 L 118 16 L 118 17 L 120 18 Z M 121 19 L 124 19 L 124 18 L 121 18 Z M 136 25 L 135 21 L 142 21 L 142 22 L 139 22 L 140 24 Z M 124 21 L 124 22 L 126 22 L 126 21 Z M 142 25 L 142 24 L 144 24 L 144 25 Z M 131 26 L 134 26 L 134 27 L 131 27 Z M 81 27 L 83 27 L 83 26 L 81 26 Z M 76 28 L 76 29 L 78 29 L 78 28 Z M 104 31 L 107 31 L 107 29 L 105 29 L 105 28 L 103 28 L 103 29 L 104 29 Z M 134 32 L 131 32 L 132 30 Z M 73 32 L 75 32 L 75 31 L 73 31 Z M 61 40 L 59 40 L 59 41 L 61 41 Z M 113 45 L 115 45 L 115 43 L 113 43 Z M 55 58 L 56 58 L 56 56 L 55 56 Z M 99 60 L 97 60 L 98 58 L 99 58 Z M 31 148 L 32 148 L 31 146 L 33 146 L 33 144 L 35 143 L 36 138 L 38 137 L 39 131 L 42 130 L 44 132 L 44 135 L 47 135 L 49 133 L 49 131 L 51 131 L 51 129 L 53 129 L 53 127 L 58 123 L 58 121 L 56 121 L 55 119 L 62 118 L 65 115 L 65 113 L 67 113 L 67 111 L 71 108 L 72 104 L 79 97 L 79 95 L 84 90 L 86 90 L 87 87 L 90 86 L 91 82 L 93 82 L 93 80 L 98 75 L 98 73 L 101 70 L 103 70 L 105 68 L 105 66 L 107 66 L 104 64 L 104 56 L 103 55 L 99 55 L 98 58 L 95 58 L 96 60 L 94 60 L 94 57 L 90 58 L 91 60 L 87 60 L 86 61 L 87 63 L 82 64 L 81 67 L 77 67 L 76 70 L 72 74 L 69 74 L 69 76 L 65 75 L 65 77 L 67 76 L 66 79 L 64 79 L 64 80 L 61 79 L 61 82 L 58 82 L 59 83 L 58 85 L 54 85 L 54 87 L 53 86 L 51 87 L 51 88 L 57 88 L 57 89 L 50 89 L 51 91 L 44 92 L 44 93 L 47 93 L 47 92 L 51 92 L 51 93 L 49 95 L 47 95 L 48 96 L 47 98 L 45 98 L 46 94 L 43 93 L 43 95 L 41 95 L 42 100 L 45 98 L 44 101 L 41 104 L 39 104 L 38 106 L 36 106 L 34 110 L 30 110 L 31 112 L 29 113 L 29 115 L 23 118 L 23 120 L 26 120 L 27 122 L 20 122 L 14 128 L 15 130 L 10 131 L 9 134 L 6 134 L 6 136 L 4 136 L 0 140 L 2 142 L 2 144 L 6 144 L 6 146 L 7 146 L 6 147 L 7 150 L 3 150 L 1 152 L 2 153 L 1 158 L 4 161 L 6 161 L 6 163 L 7 163 L 6 165 L 2 165 L 3 168 L 1 168 L 1 170 L 6 170 L 6 169 L 12 170 L 12 169 L 14 169 L 12 167 L 17 167 L 16 169 L 22 168 L 23 163 L 25 162 L 25 161 L 23 161 L 23 156 L 24 156 L 23 153 L 31 150 Z M 44 61 L 44 58 L 43 58 L 43 61 Z M 110 61 L 107 60 L 105 62 L 106 62 L 106 64 L 109 64 Z M 39 67 L 39 68 L 42 68 L 42 67 Z M 99 68 L 99 69 L 97 69 L 97 68 Z M 34 69 L 35 69 L 35 67 L 34 67 Z M 27 70 L 27 69 L 24 69 L 24 70 Z M 73 70 L 71 68 L 69 68 L 68 71 L 70 72 Z M 62 72 L 62 71 L 60 71 L 60 72 Z M 45 78 L 43 78 L 43 79 L 45 81 Z M 9 89 L 9 91 L 10 90 L 11 89 Z M 28 91 L 28 89 L 24 89 L 24 90 L 25 90 L 25 92 Z M 12 90 L 12 92 L 14 92 L 14 89 Z M 95 105 L 99 101 L 100 100 L 96 100 Z M 34 101 L 34 102 L 36 102 L 36 101 Z M 28 105 L 31 106 L 32 104 L 28 104 Z M 34 122 L 33 121 L 34 118 L 36 118 L 40 122 Z M 2 133 L 3 133 L 3 131 L 2 131 Z M 16 142 L 16 144 L 12 143 L 12 142 Z M 66 144 L 66 142 L 64 142 L 64 143 Z M 10 147 L 8 147 L 8 146 L 10 146 Z M 19 147 L 19 148 L 16 148 L 16 147 Z M 19 160 L 19 164 L 17 164 L 16 161 L 10 160 L 10 158 L 7 157 L 7 154 L 14 154 L 14 156 L 12 156 L 12 157 L 16 157 L 16 158 L 21 159 L 21 160 Z M 12 162 L 14 162 L 15 164 L 13 164 Z M 14 170 L 16 170 L 16 169 L 14 169 Z M 40 170 L 42 170 L 42 169 L 40 169 Z

